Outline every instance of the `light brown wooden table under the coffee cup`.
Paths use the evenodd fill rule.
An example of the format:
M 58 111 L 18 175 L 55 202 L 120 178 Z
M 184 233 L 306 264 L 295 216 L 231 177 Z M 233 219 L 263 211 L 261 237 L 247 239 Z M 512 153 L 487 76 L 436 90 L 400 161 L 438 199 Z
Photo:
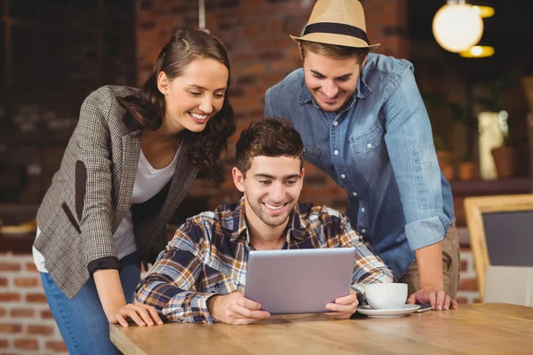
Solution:
M 279 315 L 251 326 L 111 325 L 125 354 L 533 354 L 533 307 L 460 304 L 394 319 Z

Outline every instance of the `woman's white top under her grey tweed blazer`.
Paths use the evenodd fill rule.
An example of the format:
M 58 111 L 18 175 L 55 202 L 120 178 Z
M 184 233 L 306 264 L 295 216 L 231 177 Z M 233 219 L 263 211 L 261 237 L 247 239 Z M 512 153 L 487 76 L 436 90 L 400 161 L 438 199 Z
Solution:
M 174 159 L 167 167 L 163 169 L 154 169 L 154 167 L 150 165 L 150 162 L 147 161 L 147 157 L 142 153 L 142 149 L 140 150 L 135 185 L 133 185 L 133 191 L 131 193 L 131 205 L 150 200 L 155 194 L 161 191 L 164 185 L 167 185 L 167 183 L 171 181 L 171 178 L 174 175 L 174 170 L 176 170 L 177 156 L 178 153 L 174 155 Z M 113 234 L 116 255 L 119 260 L 137 250 L 133 233 L 131 205 L 130 209 L 128 209 L 128 213 L 123 217 L 123 220 Z M 41 233 L 41 231 L 37 227 L 36 238 L 39 236 L 39 233 Z M 39 253 L 35 247 L 33 248 L 33 256 L 37 270 L 39 272 L 48 272 L 44 267 L 43 254 Z

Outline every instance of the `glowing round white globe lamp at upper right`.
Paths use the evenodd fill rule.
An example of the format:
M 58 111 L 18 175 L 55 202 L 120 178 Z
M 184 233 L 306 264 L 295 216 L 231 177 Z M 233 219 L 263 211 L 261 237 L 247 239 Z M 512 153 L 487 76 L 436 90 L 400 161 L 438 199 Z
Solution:
M 445 4 L 433 21 L 437 43 L 446 51 L 465 51 L 480 42 L 483 20 L 470 4 Z

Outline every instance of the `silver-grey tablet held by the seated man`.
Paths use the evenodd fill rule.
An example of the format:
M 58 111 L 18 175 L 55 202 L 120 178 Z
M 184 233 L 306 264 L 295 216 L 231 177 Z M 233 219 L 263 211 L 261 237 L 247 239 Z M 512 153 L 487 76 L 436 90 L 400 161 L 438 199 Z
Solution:
M 244 296 L 271 314 L 330 312 L 350 292 L 355 248 L 251 250 Z

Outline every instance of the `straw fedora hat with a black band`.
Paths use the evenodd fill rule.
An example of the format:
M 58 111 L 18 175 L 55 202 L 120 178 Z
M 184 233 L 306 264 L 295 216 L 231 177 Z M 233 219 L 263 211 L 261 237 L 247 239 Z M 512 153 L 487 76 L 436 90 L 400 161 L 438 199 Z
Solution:
M 318 0 L 300 40 L 373 50 L 366 34 L 364 11 L 358 0 Z

